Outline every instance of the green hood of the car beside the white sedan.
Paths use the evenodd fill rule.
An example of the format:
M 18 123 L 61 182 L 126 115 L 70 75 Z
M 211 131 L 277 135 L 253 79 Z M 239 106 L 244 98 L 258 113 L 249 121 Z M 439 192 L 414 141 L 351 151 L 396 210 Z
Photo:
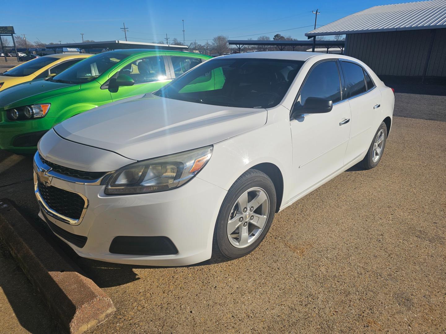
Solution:
M 25 82 L 0 91 L 0 106 L 8 107 L 21 100 L 25 104 L 35 103 L 44 98 L 79 90 L 80 86 L 45 80 Z

